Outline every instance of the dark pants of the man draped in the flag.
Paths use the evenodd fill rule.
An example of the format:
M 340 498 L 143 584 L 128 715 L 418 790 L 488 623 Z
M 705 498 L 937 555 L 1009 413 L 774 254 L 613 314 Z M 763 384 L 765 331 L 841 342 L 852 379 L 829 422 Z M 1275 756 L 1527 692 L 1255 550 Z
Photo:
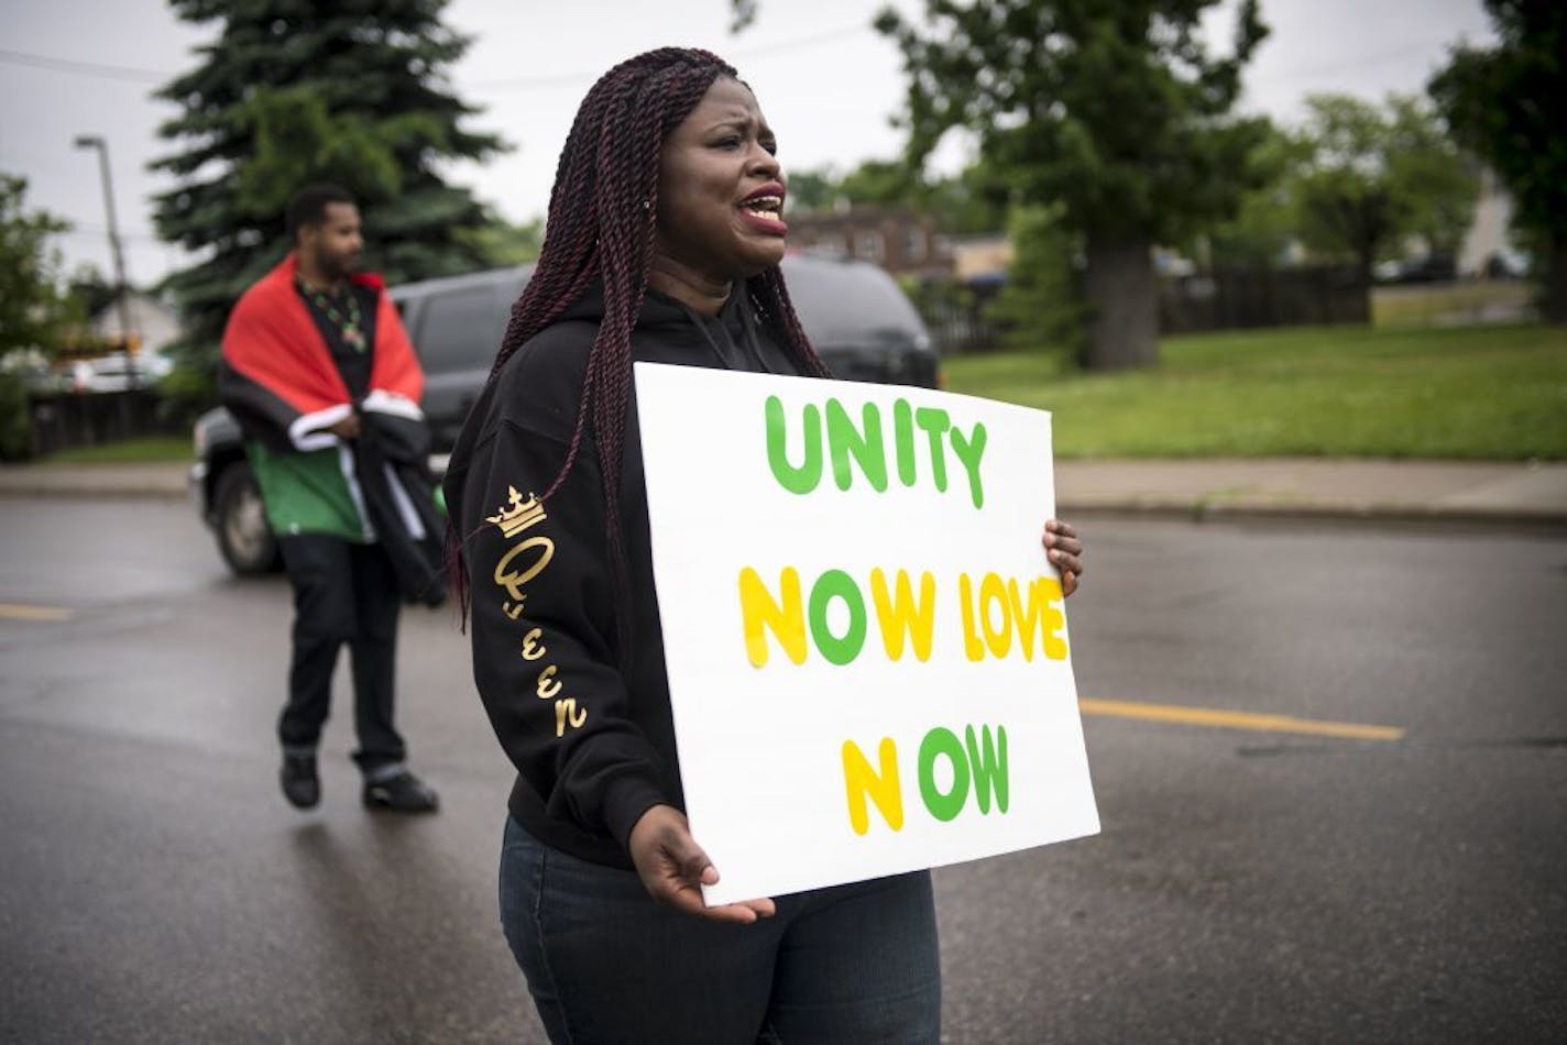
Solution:
M 392 725 L 396 617 L 401 595 L 392 561 L 378 544 L 324 534 L 282 537 L 277 547 L 295 591 L 288 703 L 277 722 L 285 749 L 315 749 L 332 708 L 332 671 L 346 642 L 354 671 L 354 761 L 365 772 L 403 761 Z

